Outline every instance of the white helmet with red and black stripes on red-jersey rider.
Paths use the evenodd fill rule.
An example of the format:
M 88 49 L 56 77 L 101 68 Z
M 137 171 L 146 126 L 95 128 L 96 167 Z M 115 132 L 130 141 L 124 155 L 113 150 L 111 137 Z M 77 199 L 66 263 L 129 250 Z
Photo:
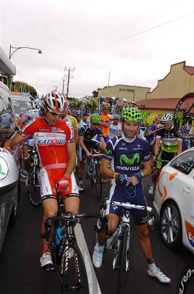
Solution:
M 44 103 L 49 108 L 62 112 L 65 112 L 68 107 L 68 101 L 65 95 L 56 91 L 48 92 L 44 97 Z

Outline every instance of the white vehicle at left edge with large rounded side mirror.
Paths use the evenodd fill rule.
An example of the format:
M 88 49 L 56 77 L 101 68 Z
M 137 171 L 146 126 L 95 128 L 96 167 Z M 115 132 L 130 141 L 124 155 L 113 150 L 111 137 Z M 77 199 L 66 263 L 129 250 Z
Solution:
M 8 224 L 16 221 L 20 198 L 19 146 L 13 148 L 13 155 L 3 148 L 16 134 L 16 115 L 9 88 L 2 81 L 15 74 L 15 66 L 0 47 L 0 251 Z

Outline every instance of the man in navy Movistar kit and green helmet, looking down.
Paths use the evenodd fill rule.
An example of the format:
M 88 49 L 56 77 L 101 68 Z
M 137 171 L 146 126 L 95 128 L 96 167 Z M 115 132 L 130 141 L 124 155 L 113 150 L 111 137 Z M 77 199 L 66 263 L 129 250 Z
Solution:
M 130 204 L 147 206 L 142 185 L 142 177 L 151 173 L 149 144 L 137 136 L 142 114 L 137 108 L 127 107 L 122 110 L 122 136 L 114 137 L 108 141 L 103 156 L 101 172 L 112 179 L 110 189 L 111 201 L 130 202 Z M 108 167 L 110 166 L 110 167 Z M 131 193 L 135 186 L 136 193 Z M 108 236 L 117 229 L 122 208 L 108 205 L 106 214 L 108 220 Z M 160 282 L 169 283 L 171 280 L 155 266 L 151 243 L 148 234 L 148 212 L 145 210 L 132 210 L 133 221 L 136 224 L 140 246 L 148 262 L 148 274 L 156 277 Z M 105 230 L 98 235 L 98 242 L 94 247 L 93 264 L 96 268 L 102 265 L 103 251 L 107 240 Z

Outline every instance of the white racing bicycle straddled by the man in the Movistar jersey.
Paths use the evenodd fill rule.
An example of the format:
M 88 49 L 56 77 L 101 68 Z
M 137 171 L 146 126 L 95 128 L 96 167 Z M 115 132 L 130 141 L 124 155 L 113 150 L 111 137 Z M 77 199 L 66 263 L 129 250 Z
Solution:
M 130 185 L 128 188 L 129 193 L 136 193 L 136 187 Z M 117 230 L 113 233 L 113 235 L 107 240 L 106 247 L 114 249 L 114 258 L 112 268 L 116 270 L 117 276 L 117 284 L 115 294 L 124 293 L 125 285 L 122 283 L 123 273 L 129 271 L 129 238 L 130 238 L 130 227 L 129 227 L 129 215 L 132 209 L 140 209 L 147 210 L 150 212 L 151 219 L 149 220 L 149 224 L 151 225 L 151 229 L 153 229 L 153 221 L 155 218 L 154 211 L 151 207 L 134 205 L 130 203 L 122 203 L 117 201 L 110 201 L 107 199 L 107 196 L 103 199 L 99 214 L 104 216 L 106 213 L 107 205 L 113 204 L 116 206 L 122 206 L 123 215 L 121 220 L 119 221 Z M 97 220 L 95 226 L 101 227 L 101 220 Z M 114 243 L 116 243 L 114 247 Z

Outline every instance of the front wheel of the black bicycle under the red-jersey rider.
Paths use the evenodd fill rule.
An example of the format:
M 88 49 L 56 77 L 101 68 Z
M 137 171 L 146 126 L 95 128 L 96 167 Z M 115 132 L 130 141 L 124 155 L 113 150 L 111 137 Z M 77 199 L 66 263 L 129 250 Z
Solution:
M 74 250 L 72 258 L 65 264 L 65 247 L 61 264 L 61 293 L 62 294 L 89 294 L 86 267 L 82 253 L 74 241 L 70 241 L 69 248 Z

